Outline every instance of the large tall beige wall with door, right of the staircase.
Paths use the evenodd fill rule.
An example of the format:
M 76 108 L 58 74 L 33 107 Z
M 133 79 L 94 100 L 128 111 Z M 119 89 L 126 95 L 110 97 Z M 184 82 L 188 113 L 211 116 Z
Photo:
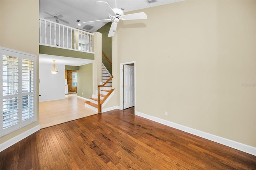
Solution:
M 147 20 L 119 22 L 112 39 L 108 107 L 120 105 L 120 63 L 136 61 L 136 111 L 255 147 L 256 1 L 142 11 Z

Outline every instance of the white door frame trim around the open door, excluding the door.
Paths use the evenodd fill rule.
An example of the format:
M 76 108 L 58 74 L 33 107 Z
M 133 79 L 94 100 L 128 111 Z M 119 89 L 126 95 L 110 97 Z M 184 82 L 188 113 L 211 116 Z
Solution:
M 135 61 L 130 61 L 126 63 L 120 63 L 120 109 L 124 110 L 124 104 L 123 104 L 123 99 L 124 99 L 124 74 L 123 74 L 123 66 L 128 65 L 128 64 L 134 64 L 134 111 L 136 110 L 136 62 Z

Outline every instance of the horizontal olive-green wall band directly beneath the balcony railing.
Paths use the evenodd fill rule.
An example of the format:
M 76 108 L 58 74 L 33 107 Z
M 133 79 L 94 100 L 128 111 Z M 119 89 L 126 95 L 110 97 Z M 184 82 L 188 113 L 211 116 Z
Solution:
M 46 46 L 46 45 L 39 45 L 39 53 L 40 54 L 58 55 L 58 56 L 64 56 L 64 57 L 74 57 L 74 58 L 94 60 L 94 54 L 93 53 L 85 53 L 85 52 L 74 51 L 74 50 L 70 50 L 70 49 L 49 47 L 49 46 Z

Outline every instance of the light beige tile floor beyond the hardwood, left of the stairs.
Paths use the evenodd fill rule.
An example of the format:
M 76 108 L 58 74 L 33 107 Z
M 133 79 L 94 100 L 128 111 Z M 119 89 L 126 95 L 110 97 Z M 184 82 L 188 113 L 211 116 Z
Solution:
M 39 102 L 40 127 L 46 128 L 97 114 L 85 107 L 84 102 L 76 93 L 66 95 L 66 99 Z

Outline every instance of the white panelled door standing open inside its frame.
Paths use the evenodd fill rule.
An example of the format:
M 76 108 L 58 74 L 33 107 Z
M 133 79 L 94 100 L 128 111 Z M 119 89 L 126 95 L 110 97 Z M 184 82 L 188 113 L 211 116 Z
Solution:
M 134 66 L 124 65 L 124 109 L 134 106 Z

